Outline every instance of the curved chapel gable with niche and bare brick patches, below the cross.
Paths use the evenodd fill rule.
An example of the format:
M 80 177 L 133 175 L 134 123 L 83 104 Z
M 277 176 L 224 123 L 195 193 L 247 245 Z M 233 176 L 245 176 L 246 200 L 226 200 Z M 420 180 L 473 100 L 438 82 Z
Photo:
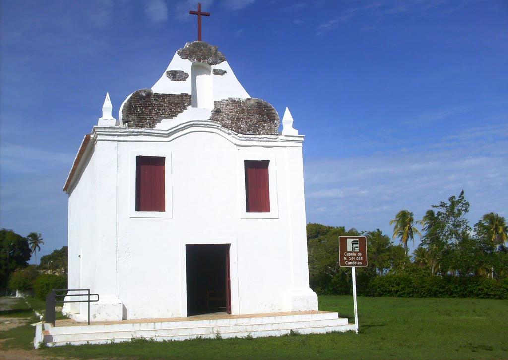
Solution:
M 274 107 L 250 97 L 224 54 L 204 41 L 186 43 L 179 49 L 161 79 L 151 89 L 130 95 L 119 114 L 125 127 L 157 129 L 170 126 L 163 120 L 180 116 L 214 121 L 245 135 L 276 135 L 280 124 Z

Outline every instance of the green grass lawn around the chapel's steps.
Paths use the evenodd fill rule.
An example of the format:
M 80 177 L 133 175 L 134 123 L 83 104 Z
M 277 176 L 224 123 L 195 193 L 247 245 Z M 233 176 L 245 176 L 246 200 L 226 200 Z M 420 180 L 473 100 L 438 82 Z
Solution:
M 137 340 L 42 348 L 38 352 L 48 357 L 129 359 L 508 359 L 506 300 L 360 297 L 358 307 L 358 335 Z M 321 296 L 320 309 L 338 311 L 353 322 L 351 296 Z M 29 328 L 29 331 L 26 326 L 9 331 L 17 337 L 26 337 L 27 341 L 9 340 L 4 344 L 25 347 L 34 336 L 34 328 Z M 0 338 L 10 337 L 5 333 L 0 332 Z

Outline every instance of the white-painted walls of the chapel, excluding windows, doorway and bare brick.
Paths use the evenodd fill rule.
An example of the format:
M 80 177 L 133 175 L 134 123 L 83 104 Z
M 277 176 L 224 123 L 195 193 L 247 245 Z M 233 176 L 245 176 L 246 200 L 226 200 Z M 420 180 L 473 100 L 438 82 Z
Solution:
M 213 75 L 214 68 L 226 73 Z M 281 134 L 237 133 L 208 120 L 213 100 L 249 97 L 226 61 L 175 55 L 168 70 L 189 76 L 163 74 L 152 90 L 192 94 L 185 111 L 154 128 L 130 128 L 120 109 L 119 122 L 106 117 L 110 126 L 103 120 L 85 137 L 65 188 L 69 288 L 100 294 L 92 321 L 185 317 L 185 245 L 230 244 L 232 314 L 317 310 L 308 284 L 303 136 L 291 114 Z M 136 211 L 137 156 L 166 158 L 163 212 Z M 244 160 L 270 161 L 270 212 L 246 212 Z M 65 310 L 86 319 L 86 303 Z

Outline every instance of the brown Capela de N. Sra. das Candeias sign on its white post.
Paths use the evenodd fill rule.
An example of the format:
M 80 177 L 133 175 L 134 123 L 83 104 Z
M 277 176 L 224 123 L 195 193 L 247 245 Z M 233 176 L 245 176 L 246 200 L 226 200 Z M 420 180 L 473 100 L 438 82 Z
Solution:
M 351 268 L 353 304 L 355 306 L 355 332 L 358 334 L 356 268 L 367 266 L 367 238 L 365 236 L 339 236 L 339 266 Z

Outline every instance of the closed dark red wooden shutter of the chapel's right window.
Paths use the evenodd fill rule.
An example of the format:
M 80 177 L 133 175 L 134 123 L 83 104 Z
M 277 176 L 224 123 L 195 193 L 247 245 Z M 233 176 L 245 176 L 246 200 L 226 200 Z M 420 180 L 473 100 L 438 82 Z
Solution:
M 245 160 L 245 203 L 247 212 L 270 212 L 270 161 Z

